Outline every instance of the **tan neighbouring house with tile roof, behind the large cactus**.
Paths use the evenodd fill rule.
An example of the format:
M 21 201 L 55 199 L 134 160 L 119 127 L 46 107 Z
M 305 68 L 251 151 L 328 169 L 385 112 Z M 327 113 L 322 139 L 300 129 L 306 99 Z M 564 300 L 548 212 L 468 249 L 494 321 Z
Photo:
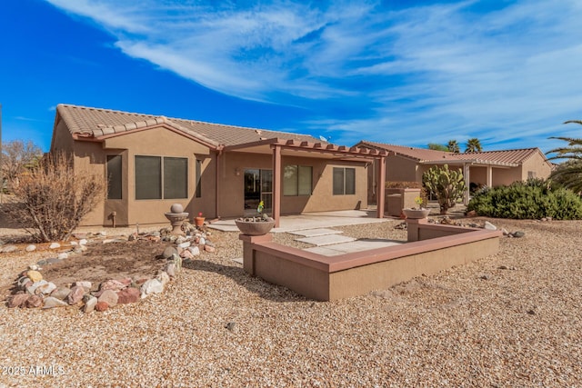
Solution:
M 467 187 L 471 184 L 494 187 L 525 181 L 528 178 L 546 179 L 552 164 L 539 148 L 455 154 L 425 148 L 408 147 L 361 141 L 357 147 L 386 151 L 387 182 L 422 182 L 422 174 L 435 165 L 448 164 L 449 168 L 463 171 Z M 369 169 L 368 191 L 371 201 L 379 187 L 374 169 Z M 468 191 L 466 203 L 468 201 Z

